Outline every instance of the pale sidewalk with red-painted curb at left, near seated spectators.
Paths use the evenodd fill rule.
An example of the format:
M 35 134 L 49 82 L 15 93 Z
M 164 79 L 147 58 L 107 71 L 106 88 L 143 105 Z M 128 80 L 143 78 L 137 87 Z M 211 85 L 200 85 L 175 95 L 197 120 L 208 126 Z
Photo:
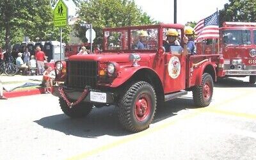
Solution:
M 21 76 L 21 75 L 6 76 L 2 74 L 0 75 L 0 77 L 3 83 L 3 87 L 7 91 L 10 90 L 10 92 L 7 92 L 6 90 L 4 90 L 4 96 L 7 98 L 44 93 L 43 88 L 39 86 L 41 84 L 43 76 Z M 12 91 L 13 88 L 19 88 L 19 86 L 22 86 L 26 83 L 34 84 L 35 86 L 38 86 L 38 87 L 33 89 L 28 88 L 28 90 L 26 89 L 26 87 L 22 87 L 24 89 Z

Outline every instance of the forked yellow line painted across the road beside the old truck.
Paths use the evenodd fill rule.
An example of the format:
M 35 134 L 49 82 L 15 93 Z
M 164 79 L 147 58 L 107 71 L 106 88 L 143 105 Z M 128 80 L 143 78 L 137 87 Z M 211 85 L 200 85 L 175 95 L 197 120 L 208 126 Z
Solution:
M 138 138 L 147 136 L 148 134 L 152 134 L 154 132 L 165 129 L 166 127 L 170 127 L 170 125 L 174 125 L 177 122 L 179 122 L 180 120 L 193 118 L 196 115 L 199 115 L 199 114 L 205 113 L 205 112 L 220 113 L 220 114 L 224 114 L 224 115 L 236 115 L 236 116 L 240 116 L 240 117 L 255 119 L 256 115 L 249 115 L 249 114 L 246 114 L 246 113 L 235 113 L 235 112 L 230 112 L 230 111 L 221 111 L 221 110 L 218 110 L 218 109 L 212 109 L 212 108 L 217 108 L 217 107 L 223 106 L 223 104 L 227 104 L 229 102 L 234 102 L 237 99 L 241 99 L 243 97 L 246 97 L 246 95 L 248 95 L 250 93 L 252 93 L 252 91 L 251 92 L 245 92 L 241 95 L 240 94 L 237 95 L 236 97 L 232 97 L 231 99 L 224 100 L 224 101 L 216 104 L 215 106 L 211 106 L 211 107 L 208 107 L 208 108 L 202 108 L 202 109 L 195 109 L 195 112 L 189 113 L 188 115 L 184 115 L 184 116 L 181 116 L 179 118 L 175 118 L 175 120 L 172 119 L 171 121 L 166 122 L 165 124 L 158 125 L 156 127 L 151 127 L 149 129 L 147 129 L 146 131 L 138 132 L 136 134 L 132 134 L 131 136 L 127 136 L 125 138 L 122 138 L 121 140 L 116 140 L 113 143 L 108 143 L 108 144 L 103 145 L 101 147 L 94 148 L 92 150 L 83 152 L 81 154 L 77 154 L 76 156 L 68 158 L 68 160 L 86 159 L 87 157 L 90 157 L 92 155 L 99 154 L 100 152 L 103 152 L 105 150 L 109 150 L 111 148 L 117 147 L 118 145 L 122 145 L 124 143 L 128 143 L 130 141 L 137 140 Z

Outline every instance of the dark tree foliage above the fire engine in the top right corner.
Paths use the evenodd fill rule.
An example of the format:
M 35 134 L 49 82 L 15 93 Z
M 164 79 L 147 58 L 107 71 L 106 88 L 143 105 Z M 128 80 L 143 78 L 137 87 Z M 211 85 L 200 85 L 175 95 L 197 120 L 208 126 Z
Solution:
M 223 22 L 255 22 L 256 1 L 255 0 L 229 0 L 220 10 L 220 25 Z

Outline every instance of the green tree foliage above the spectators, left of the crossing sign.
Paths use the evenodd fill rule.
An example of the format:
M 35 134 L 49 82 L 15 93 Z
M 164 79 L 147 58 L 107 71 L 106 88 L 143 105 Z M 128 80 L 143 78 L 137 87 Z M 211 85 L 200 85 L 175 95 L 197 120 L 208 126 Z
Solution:
M 0 43 L 10 49 L 23 36 L 32 41 L 58 40 L 60 31 L 54 28 L 50 0 L 1 0 Z M 70 27 L 63 29 L 63 42 L 68 42 Z

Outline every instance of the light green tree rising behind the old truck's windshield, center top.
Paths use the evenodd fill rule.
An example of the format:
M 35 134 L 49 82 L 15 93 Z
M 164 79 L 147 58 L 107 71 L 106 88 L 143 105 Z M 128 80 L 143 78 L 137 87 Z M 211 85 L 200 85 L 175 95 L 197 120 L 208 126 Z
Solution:
M 79 6 L 79 19 L 76 22 L 76 33 L 83 42 L 86 42 L 85 28 L 81 23 L 93 24 L 96 36 L 95 44 L 102 43 L 102 28 L 135 26 L 141 24 L 155 24 L 147 13 L 143 13 L 133 0 L 88 0 Z

